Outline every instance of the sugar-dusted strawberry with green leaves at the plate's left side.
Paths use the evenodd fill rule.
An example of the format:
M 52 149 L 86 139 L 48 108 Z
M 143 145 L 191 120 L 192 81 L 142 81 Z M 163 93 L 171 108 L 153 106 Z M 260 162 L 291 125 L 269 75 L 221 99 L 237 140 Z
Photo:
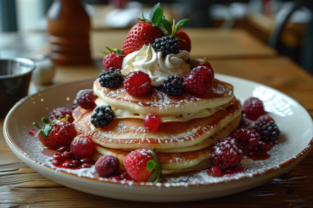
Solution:
M 64 120 L 54 119 L 50 123 L 47 118 L 42 119 L 45 126 L 39 130 L 38 139 L 45 147 L 57 149 L 60 146 L 70 146 L 77 132 L 74 125 L 66 121 L 66 119 L 67 117 Z M 39 127 L 36 122 L 33 124 Z

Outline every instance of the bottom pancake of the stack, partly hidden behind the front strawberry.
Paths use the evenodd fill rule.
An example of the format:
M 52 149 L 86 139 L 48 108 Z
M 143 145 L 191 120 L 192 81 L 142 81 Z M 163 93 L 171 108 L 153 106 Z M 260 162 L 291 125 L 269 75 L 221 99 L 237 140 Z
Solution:
M 92 159 L 97 160 L 102 155 L 113 155 L 123 164 L 128 151 L 111 149 L 95 145 L 96 152 Z M 159 153 L 156 152 L 156 158 L 162 163 L 162 174 L 177 174 L 191 170 L 201 170 L 212 165 L 211 158 L 212 148 L 204 148 L 197 151 L 184 153 Z M 122 167 L 123 168 L 123 167 Z

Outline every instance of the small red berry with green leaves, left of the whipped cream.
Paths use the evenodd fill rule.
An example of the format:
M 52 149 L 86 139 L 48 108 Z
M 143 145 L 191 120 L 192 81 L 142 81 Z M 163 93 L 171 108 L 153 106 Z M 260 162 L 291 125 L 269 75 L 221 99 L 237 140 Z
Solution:
M 121 64 L 125 57 L 124 53 L 116 48 L 106 48 L 109 50 L 109 52 L 103 52 L 104 54 L 106 54 L 102 60 L 104 70 L 108 70 L 110 67 L 114 67 L 115 69 L 121 69 Z

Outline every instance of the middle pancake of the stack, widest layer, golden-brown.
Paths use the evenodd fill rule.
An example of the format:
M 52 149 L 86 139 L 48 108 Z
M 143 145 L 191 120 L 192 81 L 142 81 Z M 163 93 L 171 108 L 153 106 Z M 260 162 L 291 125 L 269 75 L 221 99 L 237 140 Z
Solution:
M 90 123 L 91 111 L 74 110 L 73 124 L 77 132 L 89 135 L 100 146 L 112 149 L 156 148 L 174 149 L 201 143 L 240 117 L 239 101 L 205 118 L 187 122 L 161 123 L 157 131 L 148 131 L 140 119 L 114 119 L 108 126 L 94 128 Z

